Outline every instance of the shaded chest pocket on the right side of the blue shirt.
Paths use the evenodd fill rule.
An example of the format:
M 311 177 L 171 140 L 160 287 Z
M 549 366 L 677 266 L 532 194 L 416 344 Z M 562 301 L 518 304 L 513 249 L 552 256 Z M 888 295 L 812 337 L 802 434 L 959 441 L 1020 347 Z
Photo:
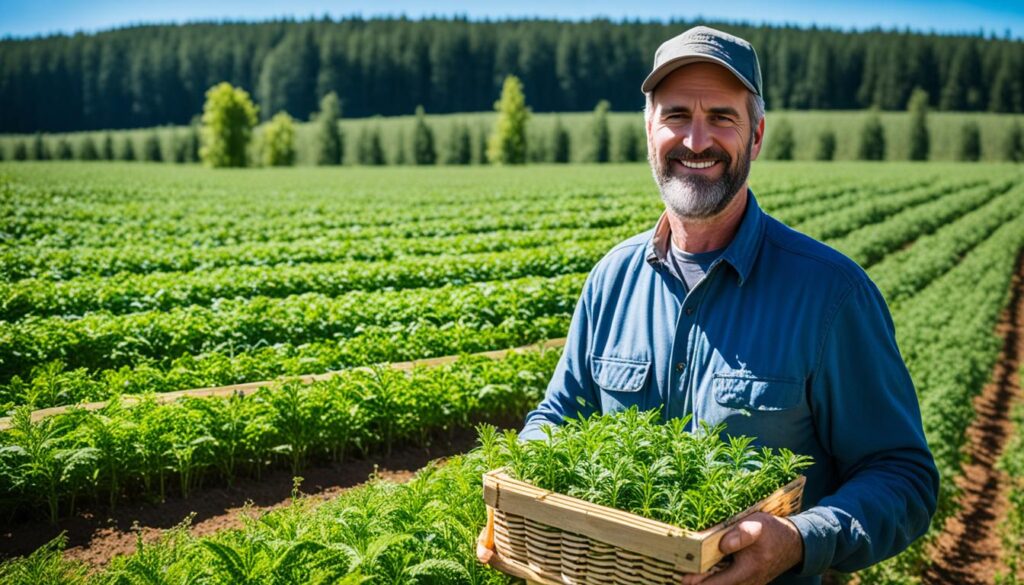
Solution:
M 785 447 L 809 430 L 810 412 L 802 380 L 717 373 L 705 418 L 724 422 L 726 433 L 757 437 L 759 445 Z

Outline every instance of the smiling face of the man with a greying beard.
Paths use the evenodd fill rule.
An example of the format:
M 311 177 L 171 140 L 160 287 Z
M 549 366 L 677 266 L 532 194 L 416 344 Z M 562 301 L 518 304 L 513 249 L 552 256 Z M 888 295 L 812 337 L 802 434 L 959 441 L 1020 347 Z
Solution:
M 713 217 L 744 191 L 764 135 L 763 120 L 752 125 L 748 95 L 725 68 L 707 62 L 676 70 L 654 89 L 647 158 L 676 215 Z

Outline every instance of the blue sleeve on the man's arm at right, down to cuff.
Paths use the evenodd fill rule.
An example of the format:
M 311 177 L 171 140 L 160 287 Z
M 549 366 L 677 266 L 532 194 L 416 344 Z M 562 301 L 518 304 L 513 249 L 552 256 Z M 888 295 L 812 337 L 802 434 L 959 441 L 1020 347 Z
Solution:
M 800 574 L 852 572 L 899 553 L 928 530 L 939 474 L 892 319 L 866 279 L 839 303 L 810 399 L 838 487 L 791 518 L 804 539 Z

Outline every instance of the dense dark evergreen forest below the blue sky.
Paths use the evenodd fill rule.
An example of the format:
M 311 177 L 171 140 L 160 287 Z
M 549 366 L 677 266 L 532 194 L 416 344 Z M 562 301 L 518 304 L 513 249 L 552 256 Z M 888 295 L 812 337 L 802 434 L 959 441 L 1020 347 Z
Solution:
M 345 117 L 490 110 L 507 74 L 536 112 L 643 106 L 654 49 L 694 23 L 464 18 L 138 26 L 0 41 L 0 132 L 186 124 L 220 81 L 262 119 L 306 119 L 334 91 Z M 714 24 L 713 24 L 714 25 Z M 1024 112 L 1024 43 L 897 31 L 714 25 L 757 48 L 770 109 Z

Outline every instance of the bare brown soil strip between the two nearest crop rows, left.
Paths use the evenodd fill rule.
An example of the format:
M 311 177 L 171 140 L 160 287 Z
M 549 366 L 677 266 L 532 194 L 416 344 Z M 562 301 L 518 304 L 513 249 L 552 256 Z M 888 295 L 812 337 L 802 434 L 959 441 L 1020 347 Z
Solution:
M 345 490 L 367 482 L 375 471 L 386 479 L 408 480 L 428 462 L 465 453 L 475 445 L 476 433 L 454 433 L 445 445 L 430 449 L 409 446 L 396 449 L 391 456 L 347 461 L 338 465 L 303 470 L 300 492 L 309 498 L 329 500 Z M 83 560 L 99 569 L 114 556 L 134 552 L 137 535 L 145 542 L 159 539 L 193 515 L 190 532 L 202 536 L 242 526 L 242 513 L 261 513 L 291 503 L 292 474 L 287 470 L 265 472 L 257 482 L 240 480 L 233 488 L 214 488 L 195 492 L 187 499 L 168 498 L 154 505 L 144 502 L 123 504 L 113 513 L 87 510 L 61 519 L 52 527 L 45 521 L 0 527 L 0 560 L 26 555 L 55 538 L 68 535 L 65 556 Z

